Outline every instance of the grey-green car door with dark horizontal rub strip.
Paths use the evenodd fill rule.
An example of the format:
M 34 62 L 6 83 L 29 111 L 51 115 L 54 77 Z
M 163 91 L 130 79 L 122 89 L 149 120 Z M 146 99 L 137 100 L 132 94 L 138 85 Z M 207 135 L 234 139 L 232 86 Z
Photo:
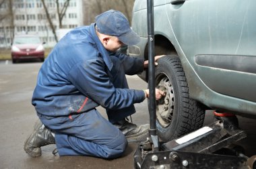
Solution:
M 203 83 L 217 93 L 248 101 L 256 101 L 255 9 L 254 0 L 166 5 L 174 38 Z

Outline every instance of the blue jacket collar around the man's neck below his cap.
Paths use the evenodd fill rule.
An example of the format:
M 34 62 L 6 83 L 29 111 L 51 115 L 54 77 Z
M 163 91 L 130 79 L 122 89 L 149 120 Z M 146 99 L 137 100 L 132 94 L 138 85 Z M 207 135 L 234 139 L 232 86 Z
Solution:
M 98 39 L 98 36 L 95 32 L 95 25 L 96 23 L 92 23 L 90 25 L 90 34 L 92 35 L 92 40 L 94 40 L 94 42 L 96 42 L 96 46 L 98 48 L 98 51 L 100 52 L 100 54 L 102 55 L 102 58 L 106 64 L 106 66 L 108 66 L 108 70 L 112 70 L 113 68 L 113 62 L 108 54 L 108 51 L 104 48 L 104 46 L 102 45 L 102 43 L 100 42 L 100 40 Z

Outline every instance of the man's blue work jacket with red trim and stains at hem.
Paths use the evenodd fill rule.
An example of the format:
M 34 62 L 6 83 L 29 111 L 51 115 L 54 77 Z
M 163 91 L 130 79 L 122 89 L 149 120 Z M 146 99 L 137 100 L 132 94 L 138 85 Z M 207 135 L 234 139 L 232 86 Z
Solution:
M 122 109 L 145 99 L 142 90 L 116 89 L 109 73 L 110 57 L 118 57 L 125 74 L 143 71 L 143 60 L 125 54 L 110 55 L 95 32 L 95 23 L 66 34 L 42 64 L 32 105 L 37 113 L 50 117 L 83 113 L 101 105 Z

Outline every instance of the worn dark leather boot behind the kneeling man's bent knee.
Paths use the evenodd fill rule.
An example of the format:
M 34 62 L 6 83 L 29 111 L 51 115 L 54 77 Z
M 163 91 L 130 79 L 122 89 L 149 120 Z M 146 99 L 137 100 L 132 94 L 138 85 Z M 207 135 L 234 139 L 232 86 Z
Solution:
M 42 146 L 55 144 L 55 137 L 50 129 L 46 128 L 40 120 L 36 121 L 33 133 L 26 139 L 24 144 L 25 152 L 35 158 L 41 156 Z

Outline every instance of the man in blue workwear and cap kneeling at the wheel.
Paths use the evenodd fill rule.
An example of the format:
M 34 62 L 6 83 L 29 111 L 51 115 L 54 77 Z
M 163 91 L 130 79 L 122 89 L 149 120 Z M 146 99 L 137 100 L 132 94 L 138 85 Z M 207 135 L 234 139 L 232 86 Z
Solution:
M 128 142 L 148 134 L 148 125 L 137 126 L 125 118 L 135 113 L 148 90 L 128 89 L 125 74 L 137 74 L 148 62 L 117 52 L 133 45 L 139 36 L 119 11 L 106 11 L 96 23 L 78 27 L 53 48 L 38 73 L 32 104 L 40 121 L 26 139 L 24 150 L 41 155 L 41 146 L 56 144 L 59 156 L 117 158 Z M 160 58 L 161 56 L 157 56 Z M 156 99 L 164 92 L 156 89 Z M 106 109 L 108 121 L 96 107 Z

